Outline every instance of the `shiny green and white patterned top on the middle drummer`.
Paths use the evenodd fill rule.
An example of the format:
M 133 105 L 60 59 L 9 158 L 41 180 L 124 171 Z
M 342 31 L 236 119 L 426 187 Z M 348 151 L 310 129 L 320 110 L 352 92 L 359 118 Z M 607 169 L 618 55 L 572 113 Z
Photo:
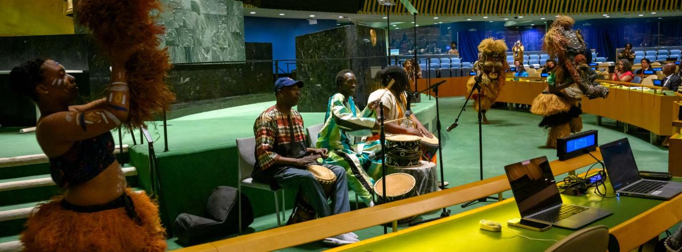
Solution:
M 353 97 L 348 102 L 344 95 L 337 93 L 329 97 L 325 126 L 317 138 L 316 148 L 353 150 L 354 136 L 372 136 L 376 119 L 370 118 L 372 110 L 357 111 Z

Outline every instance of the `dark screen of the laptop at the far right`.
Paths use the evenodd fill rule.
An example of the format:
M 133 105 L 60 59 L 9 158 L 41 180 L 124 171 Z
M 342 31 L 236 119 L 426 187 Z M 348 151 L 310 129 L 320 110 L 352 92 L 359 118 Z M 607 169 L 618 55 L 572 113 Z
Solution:
M 627 138 L 599 146 L 604 157 L 606 172 L 614 190 L 640 180 L 639 170 Z

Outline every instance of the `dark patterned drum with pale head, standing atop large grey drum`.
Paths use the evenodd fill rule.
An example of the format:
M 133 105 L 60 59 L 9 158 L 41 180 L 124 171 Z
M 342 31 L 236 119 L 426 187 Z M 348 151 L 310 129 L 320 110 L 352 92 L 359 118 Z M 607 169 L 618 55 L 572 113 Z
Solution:
M 386 137 L 386 164 L 388 166 L 416 166 L 421 159 L 421 137 L 393 135 Z

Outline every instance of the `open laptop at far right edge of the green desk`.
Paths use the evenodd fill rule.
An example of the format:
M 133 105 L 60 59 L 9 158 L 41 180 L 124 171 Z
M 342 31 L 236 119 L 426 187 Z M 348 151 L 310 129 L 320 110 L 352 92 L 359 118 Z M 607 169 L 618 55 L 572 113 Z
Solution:
M 620 195 L 670 200 L 682 192 L 682 183 L 640 178 L 627 138 L 599 146 L 606 174 Z

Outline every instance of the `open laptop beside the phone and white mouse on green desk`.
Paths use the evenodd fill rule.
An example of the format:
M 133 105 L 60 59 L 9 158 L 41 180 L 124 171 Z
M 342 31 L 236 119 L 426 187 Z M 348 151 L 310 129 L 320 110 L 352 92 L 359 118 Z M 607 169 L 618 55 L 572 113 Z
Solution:
M 557 227 L 578 229 L 612 212 L 587 206 L 563 204 L 547 157 L 505 166 L 521 217 Z

